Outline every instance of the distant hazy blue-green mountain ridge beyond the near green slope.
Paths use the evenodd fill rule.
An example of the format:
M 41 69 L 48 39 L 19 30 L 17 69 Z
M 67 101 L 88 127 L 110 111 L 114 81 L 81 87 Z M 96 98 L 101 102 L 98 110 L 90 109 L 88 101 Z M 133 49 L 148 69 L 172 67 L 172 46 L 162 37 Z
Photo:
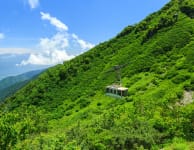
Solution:
M 37 77 L 43 70 L 26 72 L 17 76 L 10 76 L 0 80 L 0 101 L 12 95 L 26 85 L 30 80 Z

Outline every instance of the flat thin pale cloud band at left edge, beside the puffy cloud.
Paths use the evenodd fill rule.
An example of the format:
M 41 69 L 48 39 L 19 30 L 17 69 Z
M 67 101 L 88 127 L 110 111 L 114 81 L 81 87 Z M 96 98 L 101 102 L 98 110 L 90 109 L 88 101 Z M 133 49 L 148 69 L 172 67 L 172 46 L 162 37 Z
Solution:
M 32 50 L 25 48 L 0 48 L 0 55 L 5 54 L 30 54 Z

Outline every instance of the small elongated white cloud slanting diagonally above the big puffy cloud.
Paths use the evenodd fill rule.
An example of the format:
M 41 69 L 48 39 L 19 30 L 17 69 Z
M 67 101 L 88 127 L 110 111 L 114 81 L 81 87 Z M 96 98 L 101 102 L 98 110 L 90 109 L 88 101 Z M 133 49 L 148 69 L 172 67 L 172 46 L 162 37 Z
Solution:
M 60 20 L 58 20 L 55 17 L 50 16 L 49 13 L 43 13 L 40 12 L 42 20 L 48 20 L 50 21 L 50 24 L 55 26 L 59 31 L 67 31 L 68 27 L 64 23 L 62 23 Z

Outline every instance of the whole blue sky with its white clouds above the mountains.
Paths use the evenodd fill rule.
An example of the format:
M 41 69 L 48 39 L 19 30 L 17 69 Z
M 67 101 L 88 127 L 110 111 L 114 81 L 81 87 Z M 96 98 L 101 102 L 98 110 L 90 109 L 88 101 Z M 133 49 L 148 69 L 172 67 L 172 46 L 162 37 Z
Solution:
M 0 79 L 69 60 L 169 0 L 1 0 Z

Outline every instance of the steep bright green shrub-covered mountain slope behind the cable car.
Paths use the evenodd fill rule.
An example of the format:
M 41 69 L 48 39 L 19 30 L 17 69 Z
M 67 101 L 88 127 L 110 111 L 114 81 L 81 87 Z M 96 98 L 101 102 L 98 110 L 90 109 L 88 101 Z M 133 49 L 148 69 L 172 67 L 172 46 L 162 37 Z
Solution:
M 172 0 L 41 74 L 0 108 L 4 149 L 192 149 L 194 2 Z M 104 89 L 122 68 L 129 96 Z M 174 144 L 179 141 L 181 144 Z M 189 144 L 185 144 L 189 142 Z M 181 148 L 182 148 L 181 147 Z

